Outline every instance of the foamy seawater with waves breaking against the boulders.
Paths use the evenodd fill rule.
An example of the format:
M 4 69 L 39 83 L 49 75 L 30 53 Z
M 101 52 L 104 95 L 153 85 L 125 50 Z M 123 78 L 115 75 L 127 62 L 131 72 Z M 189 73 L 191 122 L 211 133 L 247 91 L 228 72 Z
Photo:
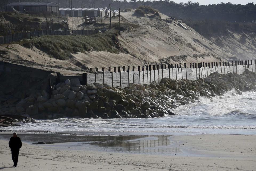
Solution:
M 176 115 L 158 118 L 59 118 L 1 129 L 65 135 L 191 135 L 256 134 L 256 92 L 234 91 L 224 96 L 201 97 L 174 109 Z

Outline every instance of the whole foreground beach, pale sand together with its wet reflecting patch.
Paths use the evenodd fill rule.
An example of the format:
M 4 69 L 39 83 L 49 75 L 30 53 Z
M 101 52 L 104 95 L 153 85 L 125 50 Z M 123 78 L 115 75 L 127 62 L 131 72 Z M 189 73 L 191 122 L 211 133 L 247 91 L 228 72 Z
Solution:
M 19 133 L 23 146 L 14 169 L 8 133 L 0 134 L 0 170 L 256 169 L 255 135 L 76 136 L 71 142 L 74 137 Z M 70 141 L 60 143 L 61 136 Z M 33 144 L 42 139 L 54 144 Z

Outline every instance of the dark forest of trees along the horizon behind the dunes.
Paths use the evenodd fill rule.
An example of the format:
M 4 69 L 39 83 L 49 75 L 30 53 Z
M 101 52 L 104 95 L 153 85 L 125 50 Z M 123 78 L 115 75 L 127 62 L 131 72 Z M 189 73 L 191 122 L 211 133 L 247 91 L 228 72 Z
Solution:
M 136 9 L 138 6 L 143 6 L 143 0 L 73 0 L 73 8 L 93 8 L 109 7 L 111 9 L 124 10 L 126 8 Z M 4 6 L 11 2 L 54 2 L 60 7 L 71 7 L 71 0 L 2 0 L 0 6 Z M 151 6 L 167 16 L 173 16 L 183 20 L 218 20 L 228 22 L 255 22 L 256 20 L 256 4 L 253 2 L 246 5 L 219 3 L 212 5 L 200 5 L 189 1 L 187 3 L 175 3 L 169 0 L 160 1 L 145 1 L 146 6 Z

